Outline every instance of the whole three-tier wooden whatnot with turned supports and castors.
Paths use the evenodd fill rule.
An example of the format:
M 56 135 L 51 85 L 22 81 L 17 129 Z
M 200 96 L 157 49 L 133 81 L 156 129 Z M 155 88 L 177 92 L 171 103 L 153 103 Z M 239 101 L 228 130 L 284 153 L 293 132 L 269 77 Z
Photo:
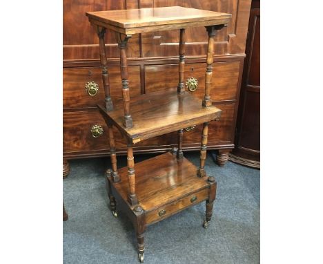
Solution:
M 108 125 L 112 169 L 108 169 L 106 188 L 114 216 L 117 208 L 123 209 L 135 226 L 139 261 L 144 261 L 144 231 L 148 225 L 172 216 L 182 209 L 206 200 L 208 226 L 212 216 L 216 187 L 213 176 L 206 177 L 204 170 L 208 122 L 218 120 L 222 111 L 212 105 L 210 97 L 213 41 L 231 19 L 230 14 L 172 6 L 87 12 L 90 23 L 99 37 L 102 79 L 106 94 L 105 105 L 98 106 Z M 184 54 L 185 28 L 205 26 L 208 32 L 206 57 L 205 95 L 202 102 L 185 91 Z M 110 97 L 108 61 L 104 36 L 106 29 L 115 32 L 120 50 L 122 101 Z M 168 91 L 148 93 L 130 98 L 126 46 L 133 34 L 179 29 L 179 83 Z M 204 124 L 199 167 L 183 155 L 183 129 Z M 112 126 L 116 126 L 128 142 L 128 166 L 117 169 L 115 140 Z M 133 144 L 178 131 L 178 149 L 138 162 L 133 158 Z

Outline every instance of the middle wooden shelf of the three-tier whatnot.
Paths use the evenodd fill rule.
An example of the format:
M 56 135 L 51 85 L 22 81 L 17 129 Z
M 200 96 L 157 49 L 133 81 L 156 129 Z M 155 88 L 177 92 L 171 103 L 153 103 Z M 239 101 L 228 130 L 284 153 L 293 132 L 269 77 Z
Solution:
M 132 97 L 130 101 L 133 127 L 123 124 L 123 102 L 115 102 L 115 109 L 106 111 L 98 105 L 108 122 L 130 138 L 133 143 L 164 135 L 195 124 L 219 119 L 222 111 L 215 106 L 203 107 L 202 102 L 189 92 L 178 94 L 176 89 Z

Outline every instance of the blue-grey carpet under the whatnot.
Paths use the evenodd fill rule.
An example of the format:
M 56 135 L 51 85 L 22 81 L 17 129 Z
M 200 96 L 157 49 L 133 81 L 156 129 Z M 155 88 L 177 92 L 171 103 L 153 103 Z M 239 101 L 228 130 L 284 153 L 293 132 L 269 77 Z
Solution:
M 194 164 L 198 152 L 184 153 Z M 135 161 L 154 155 L 135 155 Z M 108 158 L 70 161 L 63 180 L 69 215 L 63 223 L 63 263 L 139 263 L 132 224 L 121 211 L 108 209 L 104 169 Z M 126 157 L 118 158 L 118 167 Z M 110 164 L 110 163 L 108 163 Z M 206 172 L 217 180 L 217 199 L 208 229 L 202 227 L 205 203 L 146 229 L 145 263 L 260 263 L 260 171 L 227 162 L 218 167 L 211 155 Z

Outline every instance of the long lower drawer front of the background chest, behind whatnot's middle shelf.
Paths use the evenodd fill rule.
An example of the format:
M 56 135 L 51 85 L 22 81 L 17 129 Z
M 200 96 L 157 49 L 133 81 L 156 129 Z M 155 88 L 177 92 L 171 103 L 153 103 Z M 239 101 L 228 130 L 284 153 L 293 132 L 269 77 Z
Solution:
M 103 97 L 104 98 L 104 97 Z M 104 100 L 104 99 L 103 99 Z M 208 133 L 208 149 L 218 149 L 224 146 L 233 148 L 233 118 L 235 116 L 235 104 L 215 104 L 222 110 L 219 121 L 211 121 Z M 99 124 L 104 133 L 93 138 L 90 129 Z M 184 130 L 183 149 L 199 150 L 203 124 L 197 124 L 190 131 Z M 126 141 L 115 126 L 116 153 L 125 155 L 127 152 Z M 97 109 L 86 111 L 64 111 L 63 112 L 63 152 L 64 158 L 88 157 L 110 155 L 108 142 L 108 126 L 104 122 Z M 134 145 L 135 153 L 164 152 L 169 151 L 172 146 L 177 145 L 177 132 L 159 135 L 148 140 L 143 140 Z

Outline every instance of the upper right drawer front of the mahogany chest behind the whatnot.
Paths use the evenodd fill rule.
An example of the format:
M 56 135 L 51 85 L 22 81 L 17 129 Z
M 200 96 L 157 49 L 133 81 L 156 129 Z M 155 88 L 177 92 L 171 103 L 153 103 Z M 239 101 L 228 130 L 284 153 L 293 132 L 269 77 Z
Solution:
M 211 99 L 213 101 L 235 100 L 239 81 L 240 62 L 216 62 L 213 64 Z M 205 92 L 206 64 L 186 64 L 184 80 L 197 80 L 197 88 L 191 91 L 201 99 Z M 145 66 L 146 93 L 177 87 L 177 64 Z M 191 88 L 193 90 L 193 87 Z M 186 86 L 186 91 L 188 86 Z

